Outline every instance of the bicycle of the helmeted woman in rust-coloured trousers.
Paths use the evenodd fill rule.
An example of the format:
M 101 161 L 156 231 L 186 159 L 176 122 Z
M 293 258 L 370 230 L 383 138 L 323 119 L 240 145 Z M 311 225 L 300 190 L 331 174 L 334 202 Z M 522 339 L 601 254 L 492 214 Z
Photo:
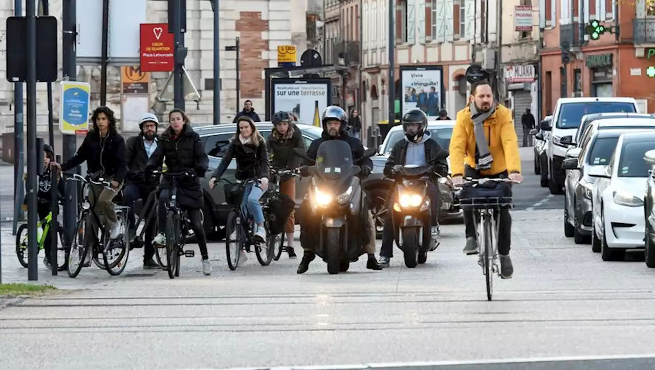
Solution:
M 274 261 L 278 261 L 280 259 L 283 251 L 289 251 L 289 249 L 291 248 L 288 246 L 284 246 L 284 231 L 269 236 L 269 234 L 271 234 L 271 223 L 277 221 L 274 213 L 272 212 L 271 203 L 280 201 L 280 195 L 282 195 L 280 193 L 280 182 L 282 182 L 282 178 L 288 176 L 300 177 L 297 168 L 292 170 L 275 170 L 271 168 L 271 179 L 273 181 L 269 183 L 269 189 L 262 197 L 263 204 L 264 204 L 262 210 L 264 212 L 264 219 L 266 220 L 265 225 L 267 231 L 267 246 L 269 249 L 273 250 Z M 293 199 L 293 204 L 295 208 L 295 199 Z M 284 221 L 286 223 L 286 220 Z M 284 225 L 284 223 L 282 223 L 282 225 Z M 280 238 L 279 244 L 278 244 L 278 238 Z M 259 257 L 257 259 L 259 259 Z M 262 263 L 262 261 L 259 261 L 259 263 Z M 269 261 L 269 263 L 271 262 Z

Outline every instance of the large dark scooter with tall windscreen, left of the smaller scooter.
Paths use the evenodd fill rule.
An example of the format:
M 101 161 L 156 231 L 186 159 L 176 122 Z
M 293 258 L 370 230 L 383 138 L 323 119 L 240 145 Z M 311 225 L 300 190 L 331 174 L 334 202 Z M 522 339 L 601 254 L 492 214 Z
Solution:
M 341 140 L 325 141 L 318 147 L 316 160 L 312 160 L 302 149 L 295 154 L 313 161 L 309 168 L 312 176 L 307 192 L 312 219 L 320 219 L 320 233 L 314 253 L 327 263 L 329 274 L 345 272 L 350 261 L 356 261 L 365 253 L 365 225 L 360 225 L 365 216 L 365 202 L 361 172 L 358 163 L 373 157 L 375 149 L 368 149 L 364 157 L 353 161 L 350 145 Z

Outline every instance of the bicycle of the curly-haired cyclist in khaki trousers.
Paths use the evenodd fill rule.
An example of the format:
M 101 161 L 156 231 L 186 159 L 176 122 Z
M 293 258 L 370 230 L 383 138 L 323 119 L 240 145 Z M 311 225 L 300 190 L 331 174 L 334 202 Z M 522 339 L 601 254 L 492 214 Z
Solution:
M 71 181 L 79 181 L 84 184 L 83 201 L 80 203 L 81 212 L 77 219 L 75 234 L 71 237 L 71 245 L 68 248 L 68 263 L 67 270 L 68 276 L 71 278 L 77 277 L 83 267 L 90 266 L 90 261 L 86 262 L 86 256 L 90 253 L 92 261 L 96 266 L 107 270 L 110 275 L 120 275 L 127 265 L 127 259 L 130 255 L 128 232 L 127 232 L 127 213 L 130 211 L 129 207 L 115 205 L 117 222 L 121 227 L 122 238 L 117 240 L 109 239 L 109 232 L 105 229 L 104 223 L 101 222 L 100 216 L 94 210 L 97 202 L 97 197 L 94 196 L 94 204 L 91 204 L 89 194 L 92 191 L 92 185 L 100 185 L 104 189 L 114 190 L 111 188 L 111 183 L 105 181 L 102 177 L 98 181 L 93 180 L 90 176 L 81 176 L 79 174 L 64 174 L 65 179 Z M 89 219 L 90 218 L 90 219 Z M 88 220 L 87 220 L 88 219 Z M 90 225 L 89 225 L 90 223 Z M 94 227 L 96 229 L 96 240 L 92 245 L 85 240 L 86 227 Z M 98 240 L 98 229 L 100 229 L 100 239 Z M 89 250 L 92 248 L 91 250 Z M 75 253 L 76 252 L 76 253 Z M 81 252 L 81 253 L 80 253 Z M 102 254 L 102 261 L 98 255 Z M 115 257 L 111 263 L 110 257 Z M 124 259 L 124 261 L 123 261 Z M 78 263 L 77 267 L 74 263 Z M 114 268 L 118 268 L 114 270 Z

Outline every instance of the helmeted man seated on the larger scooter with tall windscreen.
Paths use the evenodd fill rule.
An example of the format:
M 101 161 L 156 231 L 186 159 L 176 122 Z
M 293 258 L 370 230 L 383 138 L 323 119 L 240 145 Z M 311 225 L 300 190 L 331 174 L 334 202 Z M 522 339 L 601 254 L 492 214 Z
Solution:
M 348 143 L 353 160 L 364 157 L 364 145 L 362 145 L 362 141 L 348 136 L 345 131 L 348 125 L 348 115 L 346 115 L 346 112 L 341 107 L 337 107 L 336 105 L 327 107 L 323 111 L 322 122 L 323 133 L 320 138 L 312 141 L 309 149 L 307 149 L 307 157 L 316 160 L 318 147 L 327 140 L 343 140 Z M 312 164 L 309 161 L 306 162 L 305 166 L 300 168 L 301 176 L 305 177 L 309 176 L 309 166 Z M 370 158 L 366 158 L 360 163 L 360 168 L 362 168 L 360 174 L 362 178 L 369 176 L 373 170 L 373 161 Z M 309 270 L 309 264 L 316 258 L 312 246 L 316 242 L 315 236 L 319 233 L 317 228 L 320 228 L 320 223 L 316 219 L 309 217 L 309 205 L 309 199 L 305 198 L 303 204 L 301 204 L 305 217 L 301 219 L 300 225 L 300 244 L 303 246 L 304 251 L 303 259 L 300 261 L 298 270 L 296 271 L 298 274 L 307 272 Z M 369 243 L 365 246 L 366 253 L 368 254 L 366 268 L 370 270 L 382 270 L 382 267 L 377 263 L 377 259 L 375 259 L 375 224 L 373 223 L 373 216 L 370 210 L 365 210 L 365 212 L 366 215 L 364 215 L 365 219 L 362 220 L 362 225 L 367 225 L 368 229 L 365 232 L 368 232 L 370 237 Z

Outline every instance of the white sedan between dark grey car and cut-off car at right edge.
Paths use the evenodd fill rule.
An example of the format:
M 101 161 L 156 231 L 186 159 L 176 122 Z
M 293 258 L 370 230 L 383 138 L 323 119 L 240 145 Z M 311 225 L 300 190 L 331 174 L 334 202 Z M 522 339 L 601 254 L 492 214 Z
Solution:
M 624 258 L 629 249 L 644 248 L 644 189 L 650 166 L 644 161 L 655 149 L 655 132 L 622 134 L 607 168 L 589 168 L 598 177 L 591 196 L 591 243 L 603 261 Z

